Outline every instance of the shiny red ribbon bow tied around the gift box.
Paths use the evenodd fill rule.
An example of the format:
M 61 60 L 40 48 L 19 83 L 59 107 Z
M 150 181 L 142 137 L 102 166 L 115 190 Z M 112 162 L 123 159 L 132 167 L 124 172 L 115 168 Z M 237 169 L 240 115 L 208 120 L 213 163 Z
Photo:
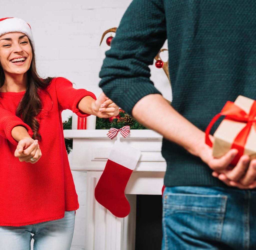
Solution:
M 209 123 L 205 130 L 205 143 L 212 147 L 212 142 L 209 138 L 210 130 L 213 124 L 219 119 L 220 116 L 226 116 L 225 119 L 229 119 L 237 122 L 247 123 L 246 126 L 238 133 L 237 137 L 231 146 L 231 149 L 238 149 L 238 154 L 231 162 L 232 165 L 236 165 L 239 158 L 243 155 L 244 146 L 246 144 L 248 135 L 250 133 L 251 127 L 253 126 L 256 130 L 256 101 L 253 102 L 249 114 L 247 114 L 240 107 L 235 105 L 232 101 L 227 101 L 225 106 L 222 108 L 221 112 L 218 113 Z

